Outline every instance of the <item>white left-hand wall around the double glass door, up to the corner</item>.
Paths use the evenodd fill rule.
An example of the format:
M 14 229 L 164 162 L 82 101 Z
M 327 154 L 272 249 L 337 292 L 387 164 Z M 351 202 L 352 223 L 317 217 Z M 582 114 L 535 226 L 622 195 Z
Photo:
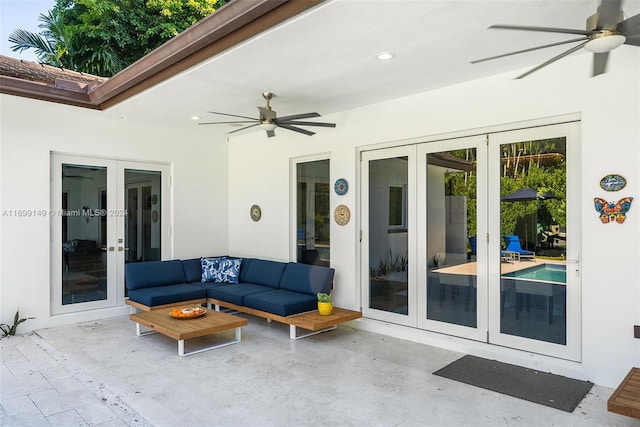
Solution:
M 59 197 L 50 194 L 51 152 L 169 163 L 172 257 L 228 252 L 227 141 L 14 96 L 0 95 L 0 108 L 0 214 L 49 210 Z M 128 313 L 123 305 L 51 316 L 49 234 L 49 217 L 0 216 L 0 322 L 11 322 L 17 308 L 35 317 L 19 332 Z

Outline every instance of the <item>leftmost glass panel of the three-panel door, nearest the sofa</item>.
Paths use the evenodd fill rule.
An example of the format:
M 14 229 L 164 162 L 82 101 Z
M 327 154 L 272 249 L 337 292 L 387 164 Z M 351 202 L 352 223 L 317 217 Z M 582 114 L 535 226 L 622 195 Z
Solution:
M 415 147 L 363 153 L 363 310 L 410 325 L 416 322 L 410 268 L 415 257 L 414 153 Z

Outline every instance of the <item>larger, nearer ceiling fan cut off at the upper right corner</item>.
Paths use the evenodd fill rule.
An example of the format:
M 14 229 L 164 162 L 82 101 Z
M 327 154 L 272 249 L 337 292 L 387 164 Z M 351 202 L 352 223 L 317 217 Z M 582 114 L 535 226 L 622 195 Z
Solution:
M 516 55 L 518 53 L 531 52 L 533 50 L 544 49 L 552 46 L 559 46 L 568 43 L 580 42 L 577 46 L 554 56 L 546 62 L 532 68 L 526 73 L 518 76 L 518 79 L 528 76 L 529 74 L 546 67 L 547 65 L 564 58 L 565 56 L 576 52 L 583 47 L 593 52 L 593 76 L 603 74 L 606 71 L 609 52 L 623 45 L 640 46 L 640 15 L 632 16 L 624 19 L 621 9 L 622 0 L 602 0 L 595 14 L 587 18 L 586 30 L 573 30 L 568 28 L 549 28 L 549 27 L 529 27 L 520 25 L 492 25 L 489 28 L 500 30 L 522 30 L 522 31 L 540 31 L 548 33 L 577 34 L 583 37 L 571 40 L 565 40 L 557 43 L 551 43 L 544 46 L 532 47 L 529 49 L 519 50 L 517 52 L 505 53 L 490 58 L 478 59 L 471 61 L 472 64 L 491 59 L 503 58 L 505 56 Z

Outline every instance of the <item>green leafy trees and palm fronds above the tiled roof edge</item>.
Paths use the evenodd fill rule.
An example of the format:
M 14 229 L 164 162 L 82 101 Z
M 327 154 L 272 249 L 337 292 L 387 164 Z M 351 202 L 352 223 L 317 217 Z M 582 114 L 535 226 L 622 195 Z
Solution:
M 36 49 L 54 66 L 110 77 L 226 0 L 56 0 L 40 33 L 15 30 L 14 51 Z

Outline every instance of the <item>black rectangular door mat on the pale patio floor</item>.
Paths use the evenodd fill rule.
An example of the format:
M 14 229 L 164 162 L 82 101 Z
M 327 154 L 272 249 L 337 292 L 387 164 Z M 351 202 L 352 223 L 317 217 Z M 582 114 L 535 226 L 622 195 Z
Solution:
M 476 356 L 463 356 L 434 375 L 567 412 L 573 412 L 593 387 L 589 381 Z

